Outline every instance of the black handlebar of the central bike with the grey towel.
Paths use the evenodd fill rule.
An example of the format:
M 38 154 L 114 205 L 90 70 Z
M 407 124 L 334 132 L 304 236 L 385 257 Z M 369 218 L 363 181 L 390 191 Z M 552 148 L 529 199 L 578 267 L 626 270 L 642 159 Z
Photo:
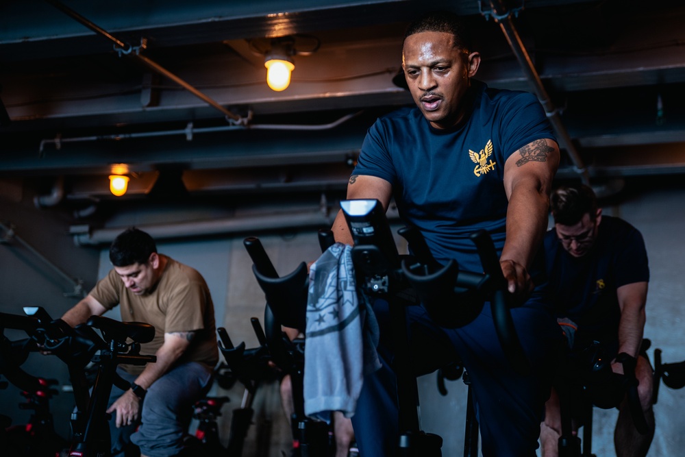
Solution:
M 369 207 L 377 209 L 378 205 L 370 205 Z M 417 289 L 419 296 L 421 296 L 421 291 L 418 290 L 421 288 L 419 284 L 420 280 L 412 282 L 412 279 L 417 280 L 419 276 L 414 275 L 410 271 L 410 268 L 407 267 L 404 260 L 401 264 L 399 264 L 399 262 L 393 262 L 392 260 L 395 259 L 394 255 L 392 255 L 393 259 L 384 260 L 384 254 L 390 249 L 388 247 L 388 241 L 384 239 L 387 236 L 386 232 L 389 232 L 389 228 L 386 227 L 387 221 L 384 217 L 377 214 L 376 210 L 372 210 L 372 212 L 373 218 L 371 218 L 371 221 L 364 221 L 363 215 L 360 214 L 349 217 L 348 221 L 348 223 L 356 224 L 356 232 L 350 229 L 351 233 L 361 234 L 360 236 L 364 238 L 364 241 L 368 241 L 366 238 L 369 238 L 372 242 L 381 243 L 384 248 L 374 249 L 375 245 L 368 244 L 357 245 L 356 248 L 358 249 L 358 252 L 355 253 L 355 251 L 353 251 L 353 261 L 356 262 L 356 268 L 358 267 L 357 263 L 359 261 L 363 262 L 366 260 L 366 268 L 359 267 L 358 274 L 362 273 L 373 276 L 378 274 L 388 275 L 388 280 L 385 282 L 379 283 L 377 281 L 372 281 L 375 290 L 383 292 L 387 292 L 387 288 L 384 288 L 384 286 L 388 281 L 403 281 L 409 279 L 412 286 Z M 345 216 L 347 218 L 347 213 L 345 213 Z M 378 227 L 377 225 L 381 226 Z M 438 262 L 432 257 L 432 254 L 430 254 L 429 248 L 427 247 L 421 232 L 419 232 L 416 227 L 405 227 L 404 229 L 401 229 L 399 233 L 412 243 L 410 247 L 417 260 L 419 260 L 424 268 L 435 269 L 439 266 Z M 451 290 L 453 294 L 456 294 L 455 297 L 458 299 L 466 299 L 466 301 L 469 301 L 471 304 L 475 303 L 471 309 L 466 311 L 465 317 L 460 316 L 456 319 L 459 325 L 464 325 L 475 319 L 475 316 L 480 312 L 480 308 L 482 308 L 482 303 L 485 300 L 484 295 L 486 295 L 490 299 L 497 338 L 499 339 L 504 354 L 516 371 L 521 373 L 521 375 L 526 375 L 530 372 L 530 362 L 528 362 L 521 342 L 519 341 L 519 336 L 516 334 L 516 328 L 510 312 L 510 295 L 507 291 L 507 282 L 501 271 L 499 256 L 497 256 L 495 245 L 493 244 L 492 238 L 490 238 L 488 232 L 485 230 L 472 234 L 471 240 L 477 248 L 479 258 L 483 265 L 484 274 L 459 271 L 455 261 L 454 264 L 448 264 L 444 267 L 443 271 L 445 272 L 445 275 L 442 275 L 443 271 L 439 271 L 434 277 L 423 275 L 423 279 L 429 277 L 429 280 L 435 279 L 441 283 L 439 291 L 431 292 L 430 289 L 432 288 L 433 283 L 430 283 L 423 286 L 423 292 L 428 295 L 433 295 L 436 299 L 442 298 L 444 301 L 445 297 L 441 297 L 442 292 Z M 332 233 L 330 231 L 320 230 L 319 244 L 321 249 L 327 249 L 332 243 L 334 243 Z M 267 308 L 273 312 L 277 323 L 303 330 L 308 285 L 304 262 L 287 277 L 279 278 L 269 256 L 266 254 L 266 251 L 258 238 L 245 238 L 244 244 L 254 263 L 253 272 L 266 295 L 267 304 L 269 305 Z M 397 249 L 393 252 L 397 253 Z M 380 262 L 382 265 L 380 265 L 379 268 L 374 268 L 369 262 Z M 397 266 L 395 266 L 395 263 L 398 263 Z M 379 287 L 378 284 L 381 284 L 381 286 Z M 480 302 L 480 305 L 478 305 L 477 302 Z M 442 305 L 444 306 L 444 304 Z M 478 308 L 478 306 L 480 306 L 480 308 Z M 294 310 L 293 308 L 298 309 Z M 301 315 L 298 316 L 298 314 Z M 269 330 L 268 326 L 267 330 Z M 277 333 L 280 332 L 278 331 Z M 269 334 L 269 331 L 267 331 L 267 334 Z M 271 338 L 269 339 L 271 340 Z

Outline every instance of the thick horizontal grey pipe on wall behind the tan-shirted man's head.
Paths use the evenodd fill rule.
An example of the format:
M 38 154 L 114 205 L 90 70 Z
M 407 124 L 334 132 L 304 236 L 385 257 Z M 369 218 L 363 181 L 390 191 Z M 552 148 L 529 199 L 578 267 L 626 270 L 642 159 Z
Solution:
M 238 217 L 232 219 L 212 219 L 210 221 L 190 221 L 181 223 L 169 223 L 164 225 L 138 224 L 140 230 L 147 232 L 155 240 L 186 238 L 210 235 L 230 235 L 258 231 L 276 231 L 307 227 L 330 227 L 337 215 L 331 213 L 329 208 L 318 210 L 288 212 L 283 214 L 266 214 L 253 217 Z M 399 219 L 397 208 L 390 206 L 387 217 L 391 221 Z M 79 226 L 82 227 L 82 226 Z M 112 243 L 125 227 L 101 228 L 90 230 L 82 227 L 82 232 L 71 230 L 74 243 L 77 246 L 96 246 Z

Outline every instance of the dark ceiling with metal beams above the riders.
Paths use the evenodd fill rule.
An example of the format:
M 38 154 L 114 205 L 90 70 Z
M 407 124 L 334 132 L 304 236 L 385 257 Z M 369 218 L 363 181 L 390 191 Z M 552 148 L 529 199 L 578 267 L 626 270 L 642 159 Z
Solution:
M 568 135 L 559 176 L 577 177 L 579 164 L 591 179 L 683 173 L 682 1 L 521 3 L 431 6 L 466 17 L 479 79 L 536 91 L 503 24 L 515 28 Z M 412 103 L 393 77 L 403 28 L 423 10 L 402 0 L 0 1 L 0 178 L 59 182 L 71 200 L 114 198 L 103 177 L 118 163 L 141 197 L 174 180 L 191 195 L 339 190 L 375 117 Z M 493 17 L 506 10 L 517 14 Z M 274 92 L 253 49 L 279 36 L 300 51 L 313 36 L 319 48 L 295 55 L 290 87 Z

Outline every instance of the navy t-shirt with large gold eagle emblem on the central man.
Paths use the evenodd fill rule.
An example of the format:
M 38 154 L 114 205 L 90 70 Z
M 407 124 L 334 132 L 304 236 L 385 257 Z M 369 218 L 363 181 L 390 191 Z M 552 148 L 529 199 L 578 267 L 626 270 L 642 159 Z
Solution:
M 434 129 L 419 108 L 378 119 L 364 138 L 354 175 L 392 184 L 404 223 L 419 227 L 439 262 L 482 271 L 468 236 L 484 228 L 504 245 L 508 200 L 504 163 L 517 149 L 554 139 L 545 112 L 527 92 L 472 80 L 473 107 L 451 129 Z

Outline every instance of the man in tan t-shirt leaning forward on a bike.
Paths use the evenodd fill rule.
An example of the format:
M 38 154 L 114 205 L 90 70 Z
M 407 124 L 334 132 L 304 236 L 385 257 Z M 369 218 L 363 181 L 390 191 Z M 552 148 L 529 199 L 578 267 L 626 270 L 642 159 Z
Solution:
M 75 326 L 120 305 L 123 321 L 154 326 L 155 338 L 140 354 L 155 354 L 157 362 L 117 369 L 132 383 L 127 391 L 112 388 L 112 456 L 123 453 L 129 439 L 142 457 L 175 456 L 183 449 L 190 407 L 219 360 L 212 297 L 200 273 L 158 254 L 153 238 L 136 228 L 116 237 L 110 261 L 114 269 L 62 319 Z

